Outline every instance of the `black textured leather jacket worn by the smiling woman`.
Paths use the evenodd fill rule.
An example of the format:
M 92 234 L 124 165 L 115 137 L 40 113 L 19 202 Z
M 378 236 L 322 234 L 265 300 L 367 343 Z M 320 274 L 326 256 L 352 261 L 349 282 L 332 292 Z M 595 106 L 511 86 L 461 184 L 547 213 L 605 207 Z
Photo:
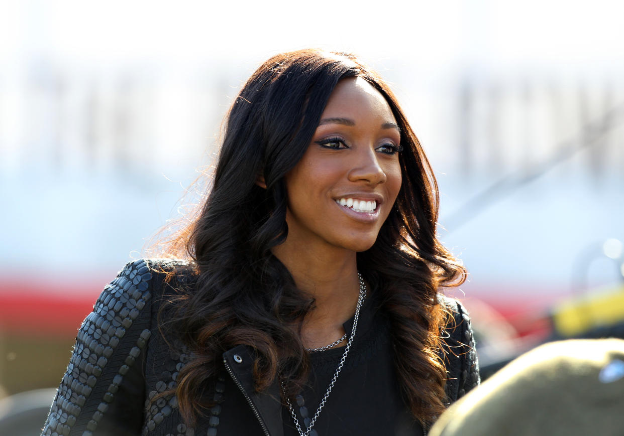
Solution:
M 164 283 L 162 272 L 171 268 L 180 273 Z M 255 392 L 253 359 L 245 346 L 223 353 L 227 373 L 216 381 L 217 405 L 194 428 L 183 423 L 177 397 L 152 400 L 176 386 L 178 372 L 191 359 L 182 344 L 166 341 L 155 328 L 162 301 L 192 280 L 184 268 L 179 261 L 137 260 L 104 288 L 80 326 L 42 435 L 283 436 L 278 384 Z M 442 302 L 456 321 L 455 328 L 447 329 L 446 349 L 441 351 L 449 372 L 450 404 L 479 384 L 479 367 L 466 311 L 457 301 Z M 227 407 L 222 409 L 224 401 Z M 232 401 L 242 404 L 232 407 Z

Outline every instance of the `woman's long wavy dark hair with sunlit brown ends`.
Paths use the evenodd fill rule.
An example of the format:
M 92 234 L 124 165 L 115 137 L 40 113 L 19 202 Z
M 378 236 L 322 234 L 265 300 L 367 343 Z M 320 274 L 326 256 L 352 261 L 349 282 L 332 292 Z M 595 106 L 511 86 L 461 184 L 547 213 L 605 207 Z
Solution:
M 358 269 L 381 294 L 390 316 L 394 366 L 402 398 L 427 424 L 444 409 L 446 372 L 437 351 L 447 317 L 441 285 L 458 285 L 465 271 L 436 239 L 437 184 L 429 161 L 388 85 L 353 55 L 299 50 L 271 57 L 232 105 L 213 186 L 198 216 L 170 244 L 197 272 L 192 291 L 173 301 L 168 320 L 193 351 L 176 394 L 190 422 L 210 404 L 206 389 L 222 354 L 244 344 L 255 351 L 255 389 L 286 382 L 294 396 L 308 380 L 300 326 L 314 301 L 296 288 L 271 249 L 285 241 L 285 175 L 308 148 L 336 84 L 362 77 L 386 99 L 401 128 L 402 186 Z M 266 189 L 258 186 L 264 178 Z

